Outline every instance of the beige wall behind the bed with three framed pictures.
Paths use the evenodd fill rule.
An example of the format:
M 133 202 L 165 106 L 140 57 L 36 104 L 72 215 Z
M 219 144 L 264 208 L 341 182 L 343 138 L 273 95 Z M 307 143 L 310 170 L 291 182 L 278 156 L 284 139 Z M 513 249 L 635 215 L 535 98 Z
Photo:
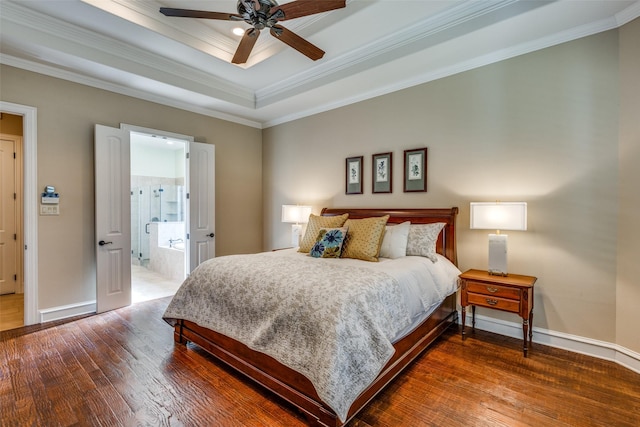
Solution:
M 266 129 L 265 249 L 287 246 L 284 203 L 316 213 L 458 206 L 459 267 L 486 268 L 487 232 L 469 230 L 469 202 L 526 201 L 529 229 L 509 233 L 509 270 L 538 277 L 535 326 L 605 342 L 633 334 L 630 312 L 616 328 L 618 64 L 614 30 Z M 405 194 L 403 150 L 422 146 L 428 192 Z M 386 151 L 393 194 L 372 194 L 371 155 Z M 344 163 L 355 155 L 365 157 L 364 194 L 347 196 Z M 625 249 L 637 259 L 638 239 Z

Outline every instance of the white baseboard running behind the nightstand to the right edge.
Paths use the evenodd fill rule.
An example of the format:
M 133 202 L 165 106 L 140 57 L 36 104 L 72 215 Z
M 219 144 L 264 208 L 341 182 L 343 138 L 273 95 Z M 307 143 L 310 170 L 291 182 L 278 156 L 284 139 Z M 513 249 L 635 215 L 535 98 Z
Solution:
M 471 326 L 471 315 L 469 313 L 466 325 Z M 522 339 L 522 323 L 507 322 L 476 315 L 476 328 Z M 610 360 L 640 374 L 640 354 L 617 344 L 536 327 L 533 328 L 533 342 Z

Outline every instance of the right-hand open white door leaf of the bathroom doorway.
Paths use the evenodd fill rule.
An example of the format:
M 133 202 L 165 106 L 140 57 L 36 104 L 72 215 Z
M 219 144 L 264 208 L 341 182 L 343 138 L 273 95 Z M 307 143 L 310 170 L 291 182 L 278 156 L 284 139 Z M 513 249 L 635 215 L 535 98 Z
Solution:
M 215 147 L 189 143 L 189 272 L 215 256 Z

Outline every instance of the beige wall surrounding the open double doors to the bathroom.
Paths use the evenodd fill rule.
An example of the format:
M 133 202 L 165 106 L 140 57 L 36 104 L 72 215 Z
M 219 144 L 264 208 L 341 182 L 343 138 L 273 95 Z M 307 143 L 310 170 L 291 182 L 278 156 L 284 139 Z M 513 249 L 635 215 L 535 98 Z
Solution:
M 38 218 L 39 309 L 95 299 L 94 124 L 133 124 L 216 146 L 216 254 L 262 244 L 261 131 L 64 80 L 0 68 L 2 100 L 38 109 L 38 187 L 60 216 Z M 243 167 L 237 167 L 242 164 Z

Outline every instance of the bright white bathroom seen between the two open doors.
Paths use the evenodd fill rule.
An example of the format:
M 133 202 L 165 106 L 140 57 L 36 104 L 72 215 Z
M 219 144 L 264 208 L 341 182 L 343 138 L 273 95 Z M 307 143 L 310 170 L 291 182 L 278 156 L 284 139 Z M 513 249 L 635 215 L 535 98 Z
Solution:
M 173 295 L 185 269 L 185 142 L 131 134 L 132 301 Z

